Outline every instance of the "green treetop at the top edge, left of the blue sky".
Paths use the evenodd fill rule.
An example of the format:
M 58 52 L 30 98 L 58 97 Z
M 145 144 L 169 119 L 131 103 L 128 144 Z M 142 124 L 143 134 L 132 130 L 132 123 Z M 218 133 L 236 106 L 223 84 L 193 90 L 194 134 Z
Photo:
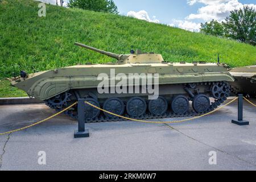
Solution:
M 70 0 L 68 7 L 118 14 L 113 0 Z

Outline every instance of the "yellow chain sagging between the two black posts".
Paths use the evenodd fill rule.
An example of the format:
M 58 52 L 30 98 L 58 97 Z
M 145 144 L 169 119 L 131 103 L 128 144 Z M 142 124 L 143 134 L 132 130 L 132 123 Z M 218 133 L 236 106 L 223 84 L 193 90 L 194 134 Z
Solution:
M 100 107 L 94 106 L 93 104 L 90 104 L 90 103 L 87 102 L 87 101 L 85 101 L 85 104 L 88 104 L 89 106 L 92 106 L 92 107 L 94 107 L 95 109 L 104 111 L 105 113 L 114 115 L 114 116 L 119 117 L 119 118 L 127 119 L 127 120 L 130 120 L 130 121 L 143 122 L 143 123 L 180 123 L 180 122 L 191 121 L 191 120 L 193 120 L 193 119 L 201 118 L 201 117 L 204 117 L 205 115 L 212 114 L 212 113 L 214 113 L 214 112 L 216 112 L 216 111 L 222 109 L 223 107 L 228 106 L 229 104 L 232 104 L 232 102 L 236 101 L 237 99 L 238 99 L 238 97 L 234 98 L 232 101 L 228 102 L 228 104 L 225 104 L 225 105 L 219 107 L 219 108 L 216 109 L 216 110 L 210 111 L 209 113 L 206 113 L 206 114 L 203 114 L 203 115 L 199 115 L 199 116 L 197 116 L 197 117 L 188 118 L 188 119 L 183 119 L 183 120 L 179 120 L 179 121 L 166 121 L 166 122 L 143 121 L 143 120 L 140 120 L 140 119 L 127 118 L 127 117 L 124 117 L 124 116 L 122 116 L 122 115 L 114 114 L 114 113 L 111 113 L 111 112 L 109 112 L 109 111 L 107 111 L 107 110 L 101 109 Z

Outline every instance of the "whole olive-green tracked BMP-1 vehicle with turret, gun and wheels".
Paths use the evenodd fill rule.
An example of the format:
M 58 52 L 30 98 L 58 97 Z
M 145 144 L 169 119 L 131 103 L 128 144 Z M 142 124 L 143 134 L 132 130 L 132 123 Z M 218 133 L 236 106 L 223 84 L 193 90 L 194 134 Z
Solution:
M 130 54 L 117 55 L 80 43 L 75 44 L 113 57 L 117 62 L 88 63 L 30 75 L 22 71 L 20 78 L 13 81 L 12 84 L 27 92 L 29 96 L 44 101 L 46 105 L 57 111 L 72 105 L 79 98 L 86 98 L 86 101 L 91 104 L 118 115 L 154 119 L 191 117 L 212 111 L 229 97 L 230 85 L 228 82 L 234 81 L 234 78 L 227 72 L 225 64 L 170 63 L 164 61 L 162 55 L 153 52 L 143 53 L 139 50 L 136 52 L 131 50 Z M 102 80 L 98 79 L 102 73 L 109 76 L 105 80 L 110 82 L 110 85 L 106 86 L 108 88 L 105 88 L 105 85 L 102 86 Z M 143 78 L 140 77 L 139 82 L 132 81 L 130 83 L 130 80 L 128 81 L 130 79 L 128 76 L 132 73 L 135 75 L 134 78 L 143 74 L 157 77 L 158 84 L 155 84 L 157 82 L 154 79 L 151 82 L 151 87 L 159 88 L 159 97 L 148 100 L 149 92 L 142 92 L 145 87 L 142 84 Z M 127 77 L 116 79 L 115 76 L 120 74 Z M 149 78 L 147 79 L 149 80 Z M 137 92 L 118 93 L 113 88 L 118 85 L 120 80 L 125 84 L 119 86 L 119 89 L 129 91 L 137 89 Z M 100 92 L 99 85 L 101 85 Z M 102 89 L 114 90 L 114 92 L 101 93 Z M 65 114 L 77 118 L 77 106 L 72 107 Z M 89 105 L 85 106 L 85 118 L 85 122 L 122 120 Z

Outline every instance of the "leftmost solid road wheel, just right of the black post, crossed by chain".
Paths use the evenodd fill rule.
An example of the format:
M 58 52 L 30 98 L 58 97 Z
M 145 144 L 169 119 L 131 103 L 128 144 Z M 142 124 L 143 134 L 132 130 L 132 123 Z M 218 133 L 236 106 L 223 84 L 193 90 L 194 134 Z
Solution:
M 98 103 L 97 100 L 95 100 L 94 98 L 86 98 L 85 100 L 86 102 L 89 102 L 90 104 L 94 105 L 94 106 L 97 106 L 97 107 L 100 107 L 100 103 Z M 94 119 L 94 118 L 97 118 L 98 115 L 100 114 L 100 110 L 88 105 L 88 104 L 85 104 L 85 108 L 84 108 L 84 113 L 85 113 L 85 119 Z

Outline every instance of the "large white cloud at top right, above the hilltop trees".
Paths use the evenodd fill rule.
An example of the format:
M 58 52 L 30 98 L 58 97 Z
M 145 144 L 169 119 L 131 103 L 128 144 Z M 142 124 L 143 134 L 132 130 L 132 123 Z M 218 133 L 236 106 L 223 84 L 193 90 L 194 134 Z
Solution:
M 238 2 L 238 0 L 189 0 L 189 5 L 193 5 L 196 2 L 204 3 L 207 6 L 201 7 L 197 14 L 190 14 L 187 16 L 187 20 L 192 19 L 203 19 L 209 21 L 212 19 L 224 20 L 229 16 L 230 11 L 235 9 L 240 9 L 243 7 L 243 4 Z M 256 5 L 250 4 L 250 7 L 256 9 Z

